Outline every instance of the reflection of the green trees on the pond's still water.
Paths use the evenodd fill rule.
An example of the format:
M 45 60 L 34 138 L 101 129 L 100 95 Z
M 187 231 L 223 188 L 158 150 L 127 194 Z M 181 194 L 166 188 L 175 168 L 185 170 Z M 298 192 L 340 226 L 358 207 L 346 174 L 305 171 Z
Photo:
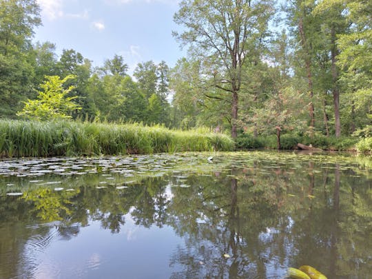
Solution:
M 300 265 L 329 278 L 364 278 L 372 272 L 371 179 L 348 172 L 313 161 L 296 169 L 243 161 L 185 178 L 143 178 L 125 189 L 97 189 L 87 180 L 74 192 L 41 187 L 0 197 L 1 262 L 19 262 L 36 234 L 45 245 L 69 240 L 92 220 L 118 234 L 131 218 L 148 229 L 170 226 L 183 238 L 170 255 L 172 278 L 275 278 Z M 25 225 L 35 223 L 47 225 Z M 17 274 L 14 265 L 6 268 L 3 274 Z

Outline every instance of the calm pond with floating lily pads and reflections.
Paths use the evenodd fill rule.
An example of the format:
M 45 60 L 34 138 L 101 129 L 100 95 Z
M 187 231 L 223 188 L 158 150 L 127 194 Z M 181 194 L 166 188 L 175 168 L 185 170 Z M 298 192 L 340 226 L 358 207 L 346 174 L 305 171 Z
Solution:
M 372 160 L 236 152 L 0 161 L 0 278 L 372 274 Z

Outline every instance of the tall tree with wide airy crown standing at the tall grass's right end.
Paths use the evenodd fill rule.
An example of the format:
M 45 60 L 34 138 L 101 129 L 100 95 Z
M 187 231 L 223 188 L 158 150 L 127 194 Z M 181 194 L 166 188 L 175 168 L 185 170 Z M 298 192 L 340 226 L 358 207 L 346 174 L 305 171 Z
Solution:
M 185 32 L 174 32 L 205 67 L 211 85 L 227 92 L 231 102 L 231 136 L 237 136 L 238 99 L 242 67 L 250 51 L 257 50 L 265 39 L 273 1 L 184 0 L 174 21 Z

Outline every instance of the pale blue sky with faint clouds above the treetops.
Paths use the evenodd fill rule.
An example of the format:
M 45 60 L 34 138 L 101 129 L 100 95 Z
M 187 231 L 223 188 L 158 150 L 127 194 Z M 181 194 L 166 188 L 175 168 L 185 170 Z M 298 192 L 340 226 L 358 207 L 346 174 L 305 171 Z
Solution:
M 130 72 L 136 64 L 162 60 L 172 67 L 185 50 L 172 37 L 178 0 L 37 0 L 43 26 L 34 41 L 56 44 L 57 54 L 74 49 L 103 65 L 122 55 Z

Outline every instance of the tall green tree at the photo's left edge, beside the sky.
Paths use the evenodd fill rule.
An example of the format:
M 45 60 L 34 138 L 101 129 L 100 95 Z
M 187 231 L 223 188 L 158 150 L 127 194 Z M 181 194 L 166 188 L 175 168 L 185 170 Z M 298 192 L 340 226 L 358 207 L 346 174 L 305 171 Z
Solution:
M 35 0 L 0 1 L 0 115 L 14 117 L 30 95 L 33 29 L 41 25 Z

